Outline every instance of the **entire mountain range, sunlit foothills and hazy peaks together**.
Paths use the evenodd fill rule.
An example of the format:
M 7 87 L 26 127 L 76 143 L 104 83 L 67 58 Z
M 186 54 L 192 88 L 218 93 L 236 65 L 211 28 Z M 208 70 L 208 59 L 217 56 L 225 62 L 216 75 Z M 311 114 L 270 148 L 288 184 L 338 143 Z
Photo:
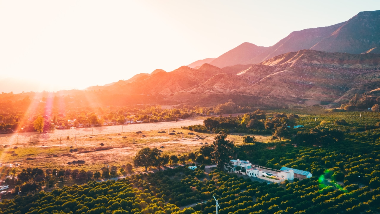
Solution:
M 379 49 L 380 11 L 365 11 L 346 22 L 292 32 L 270 47 L 245 42 L 216 58 L 83 93 L 104 105 L 116 97 L 120 103 L 161 105 L 228 99 L 242 105 L 340 103 L 356 93 L 380 95 Z

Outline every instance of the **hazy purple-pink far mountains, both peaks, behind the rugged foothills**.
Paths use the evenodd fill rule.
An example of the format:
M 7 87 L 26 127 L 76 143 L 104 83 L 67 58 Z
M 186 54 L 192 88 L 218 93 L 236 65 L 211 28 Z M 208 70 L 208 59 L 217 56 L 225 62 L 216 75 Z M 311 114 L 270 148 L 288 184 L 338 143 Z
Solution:
M 364 11 L 339 24 L 294 31 L 270 47 L 242 43 L 209 64 L 220 68 L 257 64 L 280 54 L 304 49 L 331 53 L 379 53 L 377 47 L 380 47 L 380 10 Z

